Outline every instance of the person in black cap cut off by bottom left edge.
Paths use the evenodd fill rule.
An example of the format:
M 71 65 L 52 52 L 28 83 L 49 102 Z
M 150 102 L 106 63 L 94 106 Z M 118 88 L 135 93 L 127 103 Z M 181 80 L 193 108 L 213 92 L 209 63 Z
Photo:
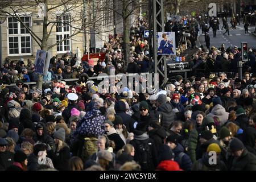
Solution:
M 5 171 L 11 164 L 13 164 L 14 154 L 6 150 L 7 141 L 0 138 L 0 171 Z

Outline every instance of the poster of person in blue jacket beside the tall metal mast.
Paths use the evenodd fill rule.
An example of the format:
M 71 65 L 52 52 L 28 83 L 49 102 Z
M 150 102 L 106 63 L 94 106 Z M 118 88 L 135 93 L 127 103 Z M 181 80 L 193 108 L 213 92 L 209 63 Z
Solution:
M 175 32 L 158 32 L 158 55 L 176 55 Z

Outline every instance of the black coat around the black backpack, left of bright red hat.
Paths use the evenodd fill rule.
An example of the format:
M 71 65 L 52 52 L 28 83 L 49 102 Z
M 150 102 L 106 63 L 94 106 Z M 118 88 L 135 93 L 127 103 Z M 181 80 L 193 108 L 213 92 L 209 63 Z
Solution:
M 141 143 L 148 144 L 151 156 L 151 158 L 148 159 L 147 161 L 147 168 L 142 168 L 142 170 L 154 170 L 156 165 L 158 164 L 158 158 L 154 141 L 151 138 L 149 138 L 146 133 L 143 133 L 141 135 L 137 135 L 136 133 L 134 133 L 134 139 L 130 141 L 130 144 L 134 147 L 135 151 L 139 151 L 139 146 Z M 135 162 L 140 162 L 138 152 L 135 152 L 134 160 Z

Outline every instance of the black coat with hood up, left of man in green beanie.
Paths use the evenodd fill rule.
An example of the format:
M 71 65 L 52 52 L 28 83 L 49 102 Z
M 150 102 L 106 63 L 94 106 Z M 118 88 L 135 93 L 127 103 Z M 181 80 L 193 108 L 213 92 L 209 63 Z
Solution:
M 125 102 L 118 101 L 114 106 L 115 113 L 123 119 L 123 124 L 126 126 L 127 131 L 130 132 L 129 120 L 131 116 L 125 113 Z

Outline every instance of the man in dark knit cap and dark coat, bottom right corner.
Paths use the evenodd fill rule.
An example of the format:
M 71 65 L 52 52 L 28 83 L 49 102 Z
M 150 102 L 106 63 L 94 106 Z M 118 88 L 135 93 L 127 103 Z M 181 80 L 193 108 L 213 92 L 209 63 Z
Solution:
M 240 139 L 233 138 L 229 149 L 234 156 L 230 168 L 232 171 L 256 171 L 256 156 L 246 150 Z

